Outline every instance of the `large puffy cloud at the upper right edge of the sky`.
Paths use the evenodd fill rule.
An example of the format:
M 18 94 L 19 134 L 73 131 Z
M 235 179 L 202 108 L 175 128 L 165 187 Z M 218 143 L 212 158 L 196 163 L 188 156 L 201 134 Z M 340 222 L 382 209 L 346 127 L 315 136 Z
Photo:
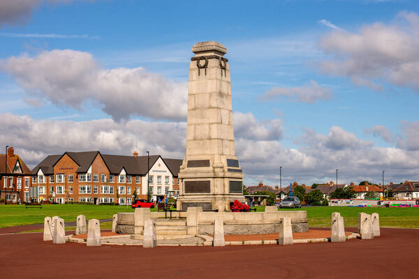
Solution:
M 333 31 L 320 41 L 333 59 L 321 70 L 350 77 L 354 84 L 382 90 L 382 80 L 419 91 L 419 17 L 399 13 L 406 24 L 366 25 L 359 33 Z

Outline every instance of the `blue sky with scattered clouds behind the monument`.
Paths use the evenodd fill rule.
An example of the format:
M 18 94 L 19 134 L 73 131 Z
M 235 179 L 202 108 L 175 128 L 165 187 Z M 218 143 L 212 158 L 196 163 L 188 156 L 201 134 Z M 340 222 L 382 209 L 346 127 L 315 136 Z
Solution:
M 419 180 L 419 2 L 0 0 L 0 144 L 186 153 L 191 47 L 227 48 L 244 184 Z

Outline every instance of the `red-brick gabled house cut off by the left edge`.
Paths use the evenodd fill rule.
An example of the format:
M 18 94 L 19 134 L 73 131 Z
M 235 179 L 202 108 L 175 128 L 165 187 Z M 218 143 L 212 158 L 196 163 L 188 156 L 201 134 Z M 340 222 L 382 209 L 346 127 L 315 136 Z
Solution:
M 7 149 L 7 154 L 0 154 L 0 176 L 2 202 L 10 204 L 29 202 L 32 172 L 15 154 L 13 147 Z

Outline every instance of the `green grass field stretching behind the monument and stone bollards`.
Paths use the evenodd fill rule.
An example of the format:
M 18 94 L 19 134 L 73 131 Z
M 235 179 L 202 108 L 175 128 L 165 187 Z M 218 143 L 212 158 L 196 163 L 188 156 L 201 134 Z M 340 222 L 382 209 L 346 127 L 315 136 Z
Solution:
M 258 207 L 258 211 L 264 211 Z M 356 227 L 358 213 L 378 213 L 380 215 L 381 227 L 405 227 L 419 228 L 419 208 L 360 208 L 344 206 L 316 206 L 303 207 L 302 209 L 281 209 L 281 210 L 304 210 L 307 211 L 310 227 L 328 227 L 332 212 L 339 212 L 344 217 L 346 227 Z M 75 221 L 75 218 L 82 214 L 87 219 L 112 218 L 118 212 L 133 212 L 130 206 L 97 206 L 82 204 L 45 204 L 42 209 L 25 209 L 23 205 L 0 205 L 0 227 L 13 227 L 19 225 L 41 224 L 45 216 L 60 216 L 65 222 Z M 156 209 L 152 209 L 156 211 Z

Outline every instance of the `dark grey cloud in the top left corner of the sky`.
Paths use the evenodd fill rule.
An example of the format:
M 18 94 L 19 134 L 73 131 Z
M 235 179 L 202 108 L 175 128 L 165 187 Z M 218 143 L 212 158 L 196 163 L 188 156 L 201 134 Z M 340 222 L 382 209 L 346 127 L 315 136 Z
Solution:
M 41 3 L 70 3 L 73 1 L 94 0 L 0 0 L 0 27 L 1 24 L 27 23 L 32 12 Z

